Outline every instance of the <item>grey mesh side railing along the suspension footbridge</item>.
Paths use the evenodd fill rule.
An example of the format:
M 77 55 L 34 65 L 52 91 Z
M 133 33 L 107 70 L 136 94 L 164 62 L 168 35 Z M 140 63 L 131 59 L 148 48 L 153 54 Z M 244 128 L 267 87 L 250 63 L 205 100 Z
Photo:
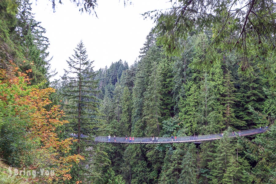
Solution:
M 262 128 L 254 128 L 249 130 L 242 130 L 240 132 L 232 132 L 229 133 L 229 137 L 236 137 L 236 136 L 246 136 L 256 133 L 262 133 L 266 131 L 266 127 Z M 176 142 L 178 141 L 197 141 L 197 140 L 212 140 L 221 138 L 222 134 L 209 134 L 209 135 L 198 135 L 198 136 L 184 136 L 184 137 L 177 137 Z M 86 136 L 85 136 L 86 137 Z M 101 142 L 108 142 L 108 136 L 96 136 L 95 141 Z M 110 138 L 110 142 L 115 142 L 114 137 Z M 116 137 L 116 142 L 132 142 L 132 139 L 129 140 L 129 137 L 125 139 L 125 137 Z M 151 137 L 134 137 L 134 142 L 153 142 Z M 174 138 L 171 137 L 159 137 L 157 142 L 175 142 Z

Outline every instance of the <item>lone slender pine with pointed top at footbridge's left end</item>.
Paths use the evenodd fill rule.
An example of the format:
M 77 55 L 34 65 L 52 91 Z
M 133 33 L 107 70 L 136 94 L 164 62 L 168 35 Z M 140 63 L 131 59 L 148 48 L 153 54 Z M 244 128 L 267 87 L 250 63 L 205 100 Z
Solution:
M 96 176 L 97 167 L 93 164 L 103 163 L 107 164 L 108 161 L 99 159 L 91 159 L 94 155 L 99 155 L 98 158 L 104 159 L 100 155 L 105 155 L 97 147 L 90 148 L 88 142 L 82 141 L 81 134 L 84 135 L 98 135 L 102 132 L 102 121 L 98 119 L 100 116 L 98 110 L 98 102 L 95 94 L 98 93 L 95 75 L 92 63 L 88 60 L 86 48 L 82 40 L 74 50 L 75 54 L 69 57 L 67 63 L 69 71 L 65 70 L 63 82 L 67 85 L 64 86 L 63 96 L 64 111 L 68 114 L 68 121 L 70 122 L 69 131 L 77 133 L 77 154 L 85 156 L 86 160 L 78 165 L 74 165 L 71 171 L 73 181 L 83 180 L 91 181 L 92 176 Z M 92 140 L 92 137 L 88 139 Z M 88 174 L 89 173 L 89 174 Z M 81 179 L 82 178 L 82 179 Z

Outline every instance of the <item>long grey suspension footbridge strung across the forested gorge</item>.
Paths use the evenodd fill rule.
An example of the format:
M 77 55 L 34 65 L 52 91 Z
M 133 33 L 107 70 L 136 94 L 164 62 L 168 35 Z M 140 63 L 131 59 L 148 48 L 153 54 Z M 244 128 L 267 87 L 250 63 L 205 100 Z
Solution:
M 266 128 L 255 128 L 243 130 L 240 133 L 235 132 L 234 134 L 229 134 L 229 137 L 237 137 L 237 136 L 250 136 L 254 134 L 259 134 L 266 132 Z M 217 140 L 222 138 L 221 134 L 210 134 L 210 135 L 199 135 L 199 136 L 185 136 L 185 137 L 177 137 L 177 140 L 172 141 L 171 137 L 159 137 L 157 142 L 150 141 L 150 137 L 134 137 L 134 142 L 129 142 L 129 137 L 126 140 L 125 137 L 116 137 L 116 142 L 114 138 L 111 137 L 110 141 L 108 141 L 107 136 L 96 136 L 94 143 L 113 143 L 113 144 L 172 144 L 172 143 L 185 143 L 185 142 L 201 142 L 208 140 Z

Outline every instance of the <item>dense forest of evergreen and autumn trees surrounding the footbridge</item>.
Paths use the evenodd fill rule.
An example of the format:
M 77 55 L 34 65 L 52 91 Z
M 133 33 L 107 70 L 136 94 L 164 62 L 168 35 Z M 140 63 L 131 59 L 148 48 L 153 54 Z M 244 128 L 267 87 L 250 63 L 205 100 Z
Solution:
M 69 69 L 51 82 L 46 30 L 29 1 L 0 1 L 0 182 L 276 183 L 276 6 L 262 2 L 246 6 L 266 22 L 245 12 L 236 38 L 230 22 L 218 34 L 220 16 L 209 26 L 208 16 L 195 17 L 198 26 L 190 26 L 184 15 L 193 1 L 178 5 L 182 15 L 158 12 L 131 66 L 119 60 L 94 70 L 93 53 L 80 40 Z M 95 3 L 83 1 L 80 10 L 91 13 Z M 229 49 L 222 38 L 237 40 Z M 93 142 L 94 136 L 228 135 L 266 126 L 262 134 L 200 144 Z

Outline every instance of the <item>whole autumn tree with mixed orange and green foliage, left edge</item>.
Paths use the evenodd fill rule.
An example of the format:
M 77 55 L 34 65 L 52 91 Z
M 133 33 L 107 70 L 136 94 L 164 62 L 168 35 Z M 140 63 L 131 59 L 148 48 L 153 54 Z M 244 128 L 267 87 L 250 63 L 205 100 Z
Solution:
M 28 72 L 30 71 L 26 71 Z M 48 169 L 55 173 L 32 178 L 33 181 L 68 180 L 71 178 L 69 171 L 72 164 L 79 163 L 79 160 L 84 158 L 69 154 L 74 141 L 72 138 L 58 138 L 56 129 L 67 121 L 63 120 L 64 112 L 59 106 L 51 105 L 49 95 L 54 93 L 55 89 L 39 89 L 40 85 L 29 86 L 30 80 L 27 74 L 19 72 L 17 67 L 9 71 L 0 69 L 0 155 L 6 163 L 9 161 L 13 166 L 32 170 Z M 9 134 L 9 127 L 13 127 L 14 135 L 17 130 L 20 132 L 19 138 L 10 136 L 13 134 Z M 20 144 L 15 144 L 16 141 L 12 144 L 8 141 L 5 143 L 8 136 L 18 140 Z M 6 147 L 2 146 L 4 144 Z M 9 149 L 12 146 L 15 147 L 13 152 Z M 13 155 L 29 156 L 18 156 L 17 161 L 9 160 Z

